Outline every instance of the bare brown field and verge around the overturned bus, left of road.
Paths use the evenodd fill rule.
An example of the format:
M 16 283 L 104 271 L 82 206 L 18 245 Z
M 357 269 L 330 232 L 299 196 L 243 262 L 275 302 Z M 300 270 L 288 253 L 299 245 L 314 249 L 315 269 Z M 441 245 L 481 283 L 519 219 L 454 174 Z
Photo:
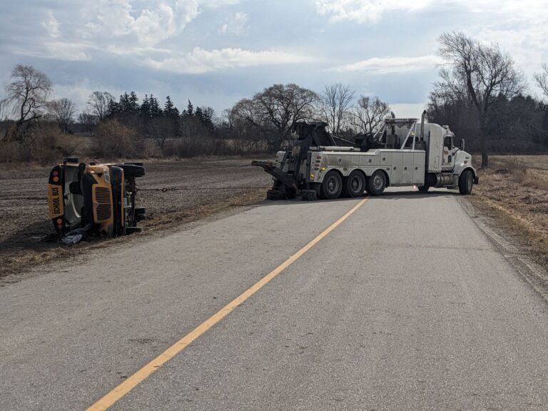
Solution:
M 262 200 L 271 179 L 250 163 L 250 158 L 145 162 L 146 176 L 137 182 L 142 189 L 138 203 L 146 207 L 148 219 L 140 225 L 150 233 Z M 50 170 L 0 170 L 0 276 L 101 243 L 83 242 L 68 248 L 44 241 L 54 233 L 47 206 Z M 162 188 L 168 191 L 162 192 Z

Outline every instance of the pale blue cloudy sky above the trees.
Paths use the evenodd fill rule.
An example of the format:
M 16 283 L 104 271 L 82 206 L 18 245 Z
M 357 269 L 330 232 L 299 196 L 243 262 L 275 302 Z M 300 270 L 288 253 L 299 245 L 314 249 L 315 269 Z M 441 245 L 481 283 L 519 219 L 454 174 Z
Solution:
M 0 82 L 31 64 L 80 109 L 92 91 L 136 91 L 220 113 L 273 83 L 321 91 L 340 82 L 419 116 L 443 31 L 497 41 L 532 93 L 532 74 L 548 62 L 547 0 L 20 0 L 0 9 Z

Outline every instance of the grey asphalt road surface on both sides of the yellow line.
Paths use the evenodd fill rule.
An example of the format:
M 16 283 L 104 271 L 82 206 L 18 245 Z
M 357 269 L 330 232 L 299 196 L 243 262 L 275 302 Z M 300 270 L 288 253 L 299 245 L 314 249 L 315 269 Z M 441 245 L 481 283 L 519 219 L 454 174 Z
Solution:
M 360 200 L 264 203 L 0 288 L 0 410 L 85 410 Z M 111 410 L 547 410 L 548 305 L 447 191 L 370 198 Z

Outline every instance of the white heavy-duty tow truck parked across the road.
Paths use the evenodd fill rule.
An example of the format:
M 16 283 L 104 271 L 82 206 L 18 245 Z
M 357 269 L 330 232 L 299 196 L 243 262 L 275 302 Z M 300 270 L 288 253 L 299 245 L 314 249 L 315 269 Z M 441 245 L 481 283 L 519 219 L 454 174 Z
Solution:
M 330 136 L 326 123 L 298 122 L 293 148 L 278 151 L 276 161 L 253 161 L 273 176 L 267 198 L 333 199 L 380 196 L 389 186 L 457 188 L 472 193 L 479 183 L 465 141 L 455 146 L 448 126 L 422 118 L 386 118 L 376 133 L 358 134 L 354 141 Z

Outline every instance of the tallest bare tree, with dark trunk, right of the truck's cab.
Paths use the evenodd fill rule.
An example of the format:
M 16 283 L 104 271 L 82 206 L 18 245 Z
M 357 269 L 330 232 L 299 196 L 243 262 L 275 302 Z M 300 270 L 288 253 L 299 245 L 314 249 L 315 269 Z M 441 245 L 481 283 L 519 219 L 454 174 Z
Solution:
M 470 101 L 477 111 L 480 128 L 482 167 L 487 167 L 487 138 L 494 105 L 524 90 L 522 74 L 514 60 L 502 53 L 497 44 L 486 45 L 460 31 L 440 36 L 440 55 L 447 68 L 440 69 L 443 87 L 462 101 Z

